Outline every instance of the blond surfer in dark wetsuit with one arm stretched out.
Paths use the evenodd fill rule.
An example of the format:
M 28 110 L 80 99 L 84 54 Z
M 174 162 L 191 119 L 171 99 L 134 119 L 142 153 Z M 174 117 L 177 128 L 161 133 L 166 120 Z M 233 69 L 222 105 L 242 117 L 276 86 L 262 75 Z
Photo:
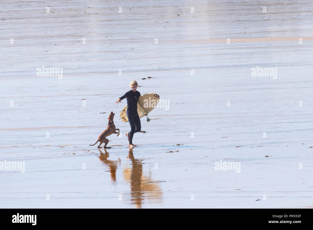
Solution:
M 141 131 L 141 123 L 140 118 L 137 111 L 137 101 L 140 97 L 140 93 L 137 91 L 138 83 L 134 80 L 130 83 L 129 87 L 131 88 L 130 91 L 127 91 L 122 97 L 117 99 L 115 103 L 120 103 L 121 100 L 127 100 L 127 111 L 126 115 L 128 118 L 129 125 L 131 126 L 131 131 L 126 133 L 128 138 L 129 144 L 128 147 L 134 148 L 136 145 L 133 144 L 133 136 L 134 133 Z M 148 114 L 145 114 L 147 116 Z

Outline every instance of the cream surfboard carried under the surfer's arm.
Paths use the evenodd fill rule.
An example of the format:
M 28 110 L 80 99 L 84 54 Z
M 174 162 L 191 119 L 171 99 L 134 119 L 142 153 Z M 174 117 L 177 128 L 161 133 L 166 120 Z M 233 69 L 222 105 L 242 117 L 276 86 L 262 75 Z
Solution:
M 148 114 L 156 107 L 156 105 L 159 103 L 160 96 L 156 93 L 146 93 L 144 95 L 141 95 L 138 98 L 137 102 L 137 112 L 139 115 L 139 118 L 142 118 L 145 116 L 145 114 Z M 127 118 L 127 105 L 123 108 L 120 114 L 120 118 L 122 118 L 123 122 L 128 122 Z

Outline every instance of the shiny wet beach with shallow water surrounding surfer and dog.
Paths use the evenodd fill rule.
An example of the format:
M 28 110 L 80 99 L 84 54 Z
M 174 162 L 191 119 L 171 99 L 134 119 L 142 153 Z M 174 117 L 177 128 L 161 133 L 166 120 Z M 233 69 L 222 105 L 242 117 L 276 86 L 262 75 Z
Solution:
M 0 162 L 25 162 L 0 171 L 1 207 L 312 207 L 313 4 L 274 2 L 1 6 Z M 277 79 L 252 77 L 257 66 Z M 129 150 L 115 101 L 134 79 L 169 108 L 141 118 Z M 120 137 L 89 146 L 110 111 Z

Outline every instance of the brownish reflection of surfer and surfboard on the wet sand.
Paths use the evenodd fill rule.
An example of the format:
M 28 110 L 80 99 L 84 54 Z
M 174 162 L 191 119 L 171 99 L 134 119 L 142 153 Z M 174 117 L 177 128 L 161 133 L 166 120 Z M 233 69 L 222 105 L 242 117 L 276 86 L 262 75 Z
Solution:
M 155 203 L 163 202 L 161 187 L 151 181 L 151 173 L 149 173 L 149 177 L 142 174 L 142 160 L 135 159 L 131 148 L 127 158 L 131 160 L 132 168 L 125 168 L 123 173 L 125 180 L 130 181 L 131 184 L 131 203 L 135 204 L 136 208 L 141 208 L 145 198 L 152 199 L 152 202 Z

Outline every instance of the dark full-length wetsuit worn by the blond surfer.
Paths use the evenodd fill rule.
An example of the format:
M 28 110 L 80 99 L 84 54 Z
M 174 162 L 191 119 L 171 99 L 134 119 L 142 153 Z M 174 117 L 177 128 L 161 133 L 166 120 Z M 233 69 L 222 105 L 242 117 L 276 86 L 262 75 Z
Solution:
M 127 100 L 127 117 L 128 122 L 131 126 L 131 131 L 128 133 L 129 135 L 129 143 L 132 143 L 134 133 L 137 133 L 141 130 L 141 123 L 140 118 L 137 112 L 137 101 L 140 97 L 140 93 L 138 91 L 134 92 L 133 90 L 130 90 L 126 92 L 122 97 L 120 97 L 121 100 L 126 98 Z

